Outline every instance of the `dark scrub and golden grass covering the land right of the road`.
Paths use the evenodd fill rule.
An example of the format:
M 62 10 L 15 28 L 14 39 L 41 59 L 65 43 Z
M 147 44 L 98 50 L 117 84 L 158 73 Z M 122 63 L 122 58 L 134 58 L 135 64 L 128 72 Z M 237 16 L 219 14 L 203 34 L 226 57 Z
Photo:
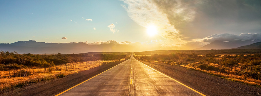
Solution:
M 202 71 L 231 81 L 261 87 L 261 55 L 199 55 L 195 53 L 135 55 L 148 62 L 159 62 Z

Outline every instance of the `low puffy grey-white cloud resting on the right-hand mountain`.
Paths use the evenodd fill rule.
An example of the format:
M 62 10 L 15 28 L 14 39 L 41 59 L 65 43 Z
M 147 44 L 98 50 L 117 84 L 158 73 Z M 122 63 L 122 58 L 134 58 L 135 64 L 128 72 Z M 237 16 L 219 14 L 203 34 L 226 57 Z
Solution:
M 223 33 L 223 34 L 214 34 L 203 39 L 197 39 L 196 41 L 203 42 L 213 42 L 213 41 L 235 41 L 235 40 L 253 40 L 253 39 L 261 39 L 261 33 L 241 33 L 239 35 Z

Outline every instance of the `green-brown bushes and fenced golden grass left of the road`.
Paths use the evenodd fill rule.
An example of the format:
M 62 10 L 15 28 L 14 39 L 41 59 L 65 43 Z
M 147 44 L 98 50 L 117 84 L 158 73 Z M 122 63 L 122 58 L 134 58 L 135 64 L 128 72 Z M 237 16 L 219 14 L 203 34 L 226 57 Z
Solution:
M 0 52 L 0 90 L 63 78 L 103 64 L 125 60 L 130 53 L 34 55 Z

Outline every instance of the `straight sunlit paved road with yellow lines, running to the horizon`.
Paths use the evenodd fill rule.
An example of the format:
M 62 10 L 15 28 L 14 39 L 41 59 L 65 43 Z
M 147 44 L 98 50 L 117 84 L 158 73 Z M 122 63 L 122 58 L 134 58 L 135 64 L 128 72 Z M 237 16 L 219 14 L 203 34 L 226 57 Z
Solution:
M 69 88 L 58 95 L 201 96 L 203 94 L 148 67 L 131 56 L 129 60 Z

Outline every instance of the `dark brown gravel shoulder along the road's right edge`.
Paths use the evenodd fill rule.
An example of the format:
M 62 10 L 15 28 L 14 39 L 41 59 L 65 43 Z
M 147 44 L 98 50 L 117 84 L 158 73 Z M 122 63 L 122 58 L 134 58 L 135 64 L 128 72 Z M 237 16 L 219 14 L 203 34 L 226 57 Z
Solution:
M 228 81 L 200 71 L 188 70 L 178 65 L 138 61 L 207 96 L 261 96 L 261 88 L 255 86 Z

